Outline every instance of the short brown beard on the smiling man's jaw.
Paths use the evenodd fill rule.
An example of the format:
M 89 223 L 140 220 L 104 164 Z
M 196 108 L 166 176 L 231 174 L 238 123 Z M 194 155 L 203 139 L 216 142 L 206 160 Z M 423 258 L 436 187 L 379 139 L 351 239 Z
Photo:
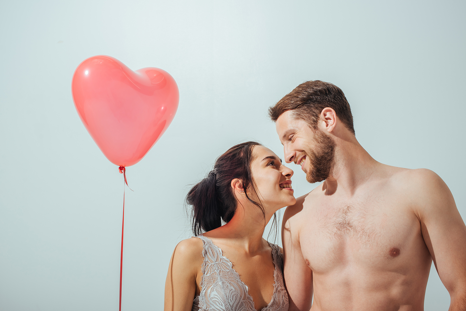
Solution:
M 309 159 L 310 164 L 309 170 L 306 172 L 308 183 L 326 180 L 330 175 L 335 157 L 335 141 L 319 129 L 315 130 L 314 134 L 316 142 L 314 150 L 305 150 L 306 158 Z

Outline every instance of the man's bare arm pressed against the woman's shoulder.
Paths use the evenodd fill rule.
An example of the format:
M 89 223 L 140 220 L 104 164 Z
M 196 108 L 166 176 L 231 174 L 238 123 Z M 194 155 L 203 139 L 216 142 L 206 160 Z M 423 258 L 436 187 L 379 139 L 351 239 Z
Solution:
M 288 291 L 289 311 L 308 311 L 312 304 L 312 270 L 304 261 L 299 242 L 297 219 L 304 197 L 288 206 L 283 215 L 281 241 L 283 243 L 285 286 Z M 296 215 L 298 214 L 298 215 Z M 295 217 L 294 217 L 295 216 Z

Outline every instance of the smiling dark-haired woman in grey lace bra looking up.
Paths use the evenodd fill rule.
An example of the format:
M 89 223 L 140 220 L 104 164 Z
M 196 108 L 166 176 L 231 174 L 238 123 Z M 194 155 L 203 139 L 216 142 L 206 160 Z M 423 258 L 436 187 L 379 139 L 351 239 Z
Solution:
M 257 142 L 219 156 L 186 196 L 197 237 L 173 252 L 165 311 L 288 310 L 282 251 L 262 235 L 277 210 L 296 202 L 291 176 L 293 170 Z

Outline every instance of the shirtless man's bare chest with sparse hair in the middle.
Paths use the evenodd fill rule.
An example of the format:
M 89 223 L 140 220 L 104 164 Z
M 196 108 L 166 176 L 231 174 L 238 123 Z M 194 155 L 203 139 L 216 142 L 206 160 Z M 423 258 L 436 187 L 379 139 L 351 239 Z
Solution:
M 302 219 L 302 254 L 315 272 L 359 265 L 385 270 L 423 243 L 418 218 L 396 198 L 315 200 Z

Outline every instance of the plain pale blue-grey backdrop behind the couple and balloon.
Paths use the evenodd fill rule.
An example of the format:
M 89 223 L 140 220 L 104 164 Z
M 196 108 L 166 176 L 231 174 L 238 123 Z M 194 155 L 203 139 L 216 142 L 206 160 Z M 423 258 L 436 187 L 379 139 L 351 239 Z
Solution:
M 303 81 L 342 88 L 369 153 L 438 173 L 465 218 L 464 16 L 464 1 L 2 1 L 0 309 L 118 308 L 123 176 L 71 97 L 98 54 L 162 68 L 180 90 L 127 169 L 123 310 L 162 310 L 188 185 L 244 140 L 282 156 L 266 111 Z M 296 195 L 315 187 L 291 167 Z M 433 268 L 425 310 L 449 302 Z

